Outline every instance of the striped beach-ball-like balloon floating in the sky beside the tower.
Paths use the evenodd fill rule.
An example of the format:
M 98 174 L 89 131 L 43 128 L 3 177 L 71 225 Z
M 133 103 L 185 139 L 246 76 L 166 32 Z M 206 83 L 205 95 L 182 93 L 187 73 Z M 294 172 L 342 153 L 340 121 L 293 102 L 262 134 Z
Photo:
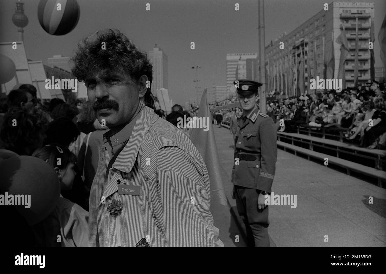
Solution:
M 37 7 L 40 25 L 52 35 L 68 34 L 78 24 L 79 16 L 76 0 L 40 0 Z

